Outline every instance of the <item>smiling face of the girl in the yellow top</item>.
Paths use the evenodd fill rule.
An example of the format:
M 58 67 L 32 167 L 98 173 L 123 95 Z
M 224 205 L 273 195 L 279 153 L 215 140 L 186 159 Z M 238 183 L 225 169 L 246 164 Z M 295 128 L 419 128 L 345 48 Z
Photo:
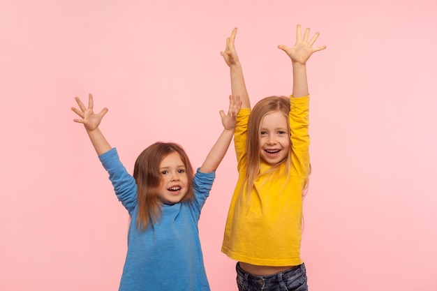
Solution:
M 267 114 L 260 126 L 260 157 L 269 165 L 283 161 L 290 151 L 287 119 L 279 111 Z

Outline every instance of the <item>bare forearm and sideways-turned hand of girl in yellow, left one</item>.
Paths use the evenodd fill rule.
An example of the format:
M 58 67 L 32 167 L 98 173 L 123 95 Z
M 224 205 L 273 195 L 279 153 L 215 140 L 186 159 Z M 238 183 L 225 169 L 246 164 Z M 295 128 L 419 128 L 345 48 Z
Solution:
M 242 100 L 242 108 L 250 108 L 251 103 L 249 101 L 249 94 L 247 94 L 246 84 L 244 83 L 242 64 L 239 62 L 234 45 L 236 35 L 237 28 L 232 30 L 230 37 L 226 39 L 225 51 L 220 52 L 220 54 L 230 68 L 230 87 L 232 96 L 239 96 L 240 100 Z

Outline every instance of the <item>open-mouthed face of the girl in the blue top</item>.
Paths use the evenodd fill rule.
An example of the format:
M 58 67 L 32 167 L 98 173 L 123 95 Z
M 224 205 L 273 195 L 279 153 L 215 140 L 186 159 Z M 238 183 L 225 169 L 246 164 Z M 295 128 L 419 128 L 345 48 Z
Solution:
M 188 192 L 188 177 L 186 167 L 176 151 L 163 158 L 159 164 L 159 172 L 161 184 L 158 199 L 164 204 L 180 202 Z

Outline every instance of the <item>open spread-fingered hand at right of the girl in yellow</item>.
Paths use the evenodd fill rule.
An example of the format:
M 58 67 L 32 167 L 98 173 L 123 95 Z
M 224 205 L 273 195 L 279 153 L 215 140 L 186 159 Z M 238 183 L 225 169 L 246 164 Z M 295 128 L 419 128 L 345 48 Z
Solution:
M 320 33 L 316 32 L 311 40 L 309 40 L 309 28 L 307 28 L 305 29 L 304 38 L 302 38 L 300 24 L 297 24 L 295 46 L 290 48 L 286 45 L 278 45 L 278 48 L 286 52 L 293 63 L 304 65 L 309 57 L 311 57 L 311 54 L 319 50 L 325 50 L 326 48 L 326 45 L 313 47 L 319 34 Z

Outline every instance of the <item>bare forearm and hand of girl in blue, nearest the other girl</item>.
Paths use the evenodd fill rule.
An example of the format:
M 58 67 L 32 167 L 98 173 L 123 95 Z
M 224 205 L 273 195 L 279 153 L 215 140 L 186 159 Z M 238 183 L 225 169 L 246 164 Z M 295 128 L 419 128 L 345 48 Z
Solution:
M 229 110 L 228 114 L 225 114 L 223 110 L 220 111 L 221 122 L 223 124 L 223 132 L 218 137 L 218 140 L 212 147 L 211 151 L 205 162 L 203 162 L 202 167 L 200 167 L 200 172 L 209 173 L 214 172 L 218 165 L 220 165 L 223 157 L 228 151 L 229 144 L 232 140 L 232 136 L 234 135 L 235 130 L 235 117 L 242 107 L 242 101 L 239 100 L 239 96 L 236 98 L 232 95 L 229 96 Z

